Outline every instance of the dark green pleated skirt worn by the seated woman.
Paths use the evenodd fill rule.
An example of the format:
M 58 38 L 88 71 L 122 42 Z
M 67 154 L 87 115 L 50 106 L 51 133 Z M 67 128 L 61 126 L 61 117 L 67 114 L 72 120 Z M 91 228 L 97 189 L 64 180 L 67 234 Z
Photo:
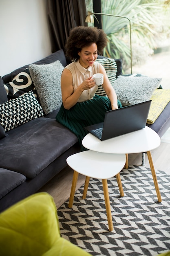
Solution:
M 118 108 L 122 108 L 120 101 L 117 101 Z M 81 150 L 86 150 L 82 146 L 82 139 L 88 134 L 84 130 L 85 126 L 98 124 L 104 121 L 105 112 L 111 110 L 108 97 L 95 95 L 91 100 L 77 102 L 71 109 L 66 110 L 62 104 L 57 113 L 56 120 L 71 130 L 78 138 Z

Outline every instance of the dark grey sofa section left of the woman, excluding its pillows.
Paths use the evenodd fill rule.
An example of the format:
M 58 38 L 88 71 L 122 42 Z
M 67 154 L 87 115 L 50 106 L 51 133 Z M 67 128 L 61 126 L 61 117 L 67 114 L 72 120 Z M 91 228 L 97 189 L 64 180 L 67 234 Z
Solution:
M 60 60 L 62 65 L 66 65 L 66 58 L 62 50 L 36 64 L 49 64 L 56 60 Z M 21 72 L 26 68 L 28 65 L 3 76 L 1 82 L 3 80 L 4 84 L 9 85 L 8 83 L 19 73 L 22 81 Z M 2 91 L 2 89 L 1 86 L 0 90 Z M 1 104 L 2 95 L 3 93 L 0 92 Z M 77 137 L 57 123 L 56 114 L 57 110 L 49 115 L 43 113 L 42 116 L 26 121 L 24 124 L 8 130 L 5 134 L 1 126 L 0 211 L 38 191 L 62 171 L 69 155 L 79 151 Z M 6 136 L 4 137 L 4 135 Z

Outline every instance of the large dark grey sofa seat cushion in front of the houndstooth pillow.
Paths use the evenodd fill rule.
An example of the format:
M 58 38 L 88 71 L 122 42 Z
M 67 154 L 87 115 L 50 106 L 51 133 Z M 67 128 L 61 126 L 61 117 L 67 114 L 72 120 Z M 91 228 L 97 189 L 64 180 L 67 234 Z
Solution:
M 56 120 L 39 117 L 0 140 L 0 166 L 34 178 L 71 148 L 77 137 Z

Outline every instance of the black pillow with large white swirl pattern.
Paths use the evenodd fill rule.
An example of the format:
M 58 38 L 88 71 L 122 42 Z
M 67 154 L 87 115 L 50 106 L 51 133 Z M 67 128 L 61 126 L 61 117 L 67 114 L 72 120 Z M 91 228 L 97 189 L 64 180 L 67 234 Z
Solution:
M 33 85 L 28 68 L 17 74 L 11 82 L 4 84 L 4 87 L 7 92 L 8 100 L 16 99 L 31 90 L 34 92 L 35 97 L 37 97 L 35 86 Z

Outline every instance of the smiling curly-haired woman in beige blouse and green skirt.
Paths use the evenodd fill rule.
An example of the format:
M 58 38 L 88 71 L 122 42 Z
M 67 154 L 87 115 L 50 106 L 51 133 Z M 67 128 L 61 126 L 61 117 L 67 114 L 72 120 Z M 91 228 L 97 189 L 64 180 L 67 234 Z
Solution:
M 56 120 L 75 133 L 81 150 L 85 150 L 82 139 L 88 133 L 84 127 L 103 122 L 106 111 L 121 108 L 104 67 L 95 62 L 106 45 L 102 29 L 83 26 L 72 29 L 66 43 L 66 56 L 72 63 L 62 72 L 62 106 Z M 107 97 L 95 95 L 98 87 L 93 79 L 95 73 L 104 74 L 102 86 Z

